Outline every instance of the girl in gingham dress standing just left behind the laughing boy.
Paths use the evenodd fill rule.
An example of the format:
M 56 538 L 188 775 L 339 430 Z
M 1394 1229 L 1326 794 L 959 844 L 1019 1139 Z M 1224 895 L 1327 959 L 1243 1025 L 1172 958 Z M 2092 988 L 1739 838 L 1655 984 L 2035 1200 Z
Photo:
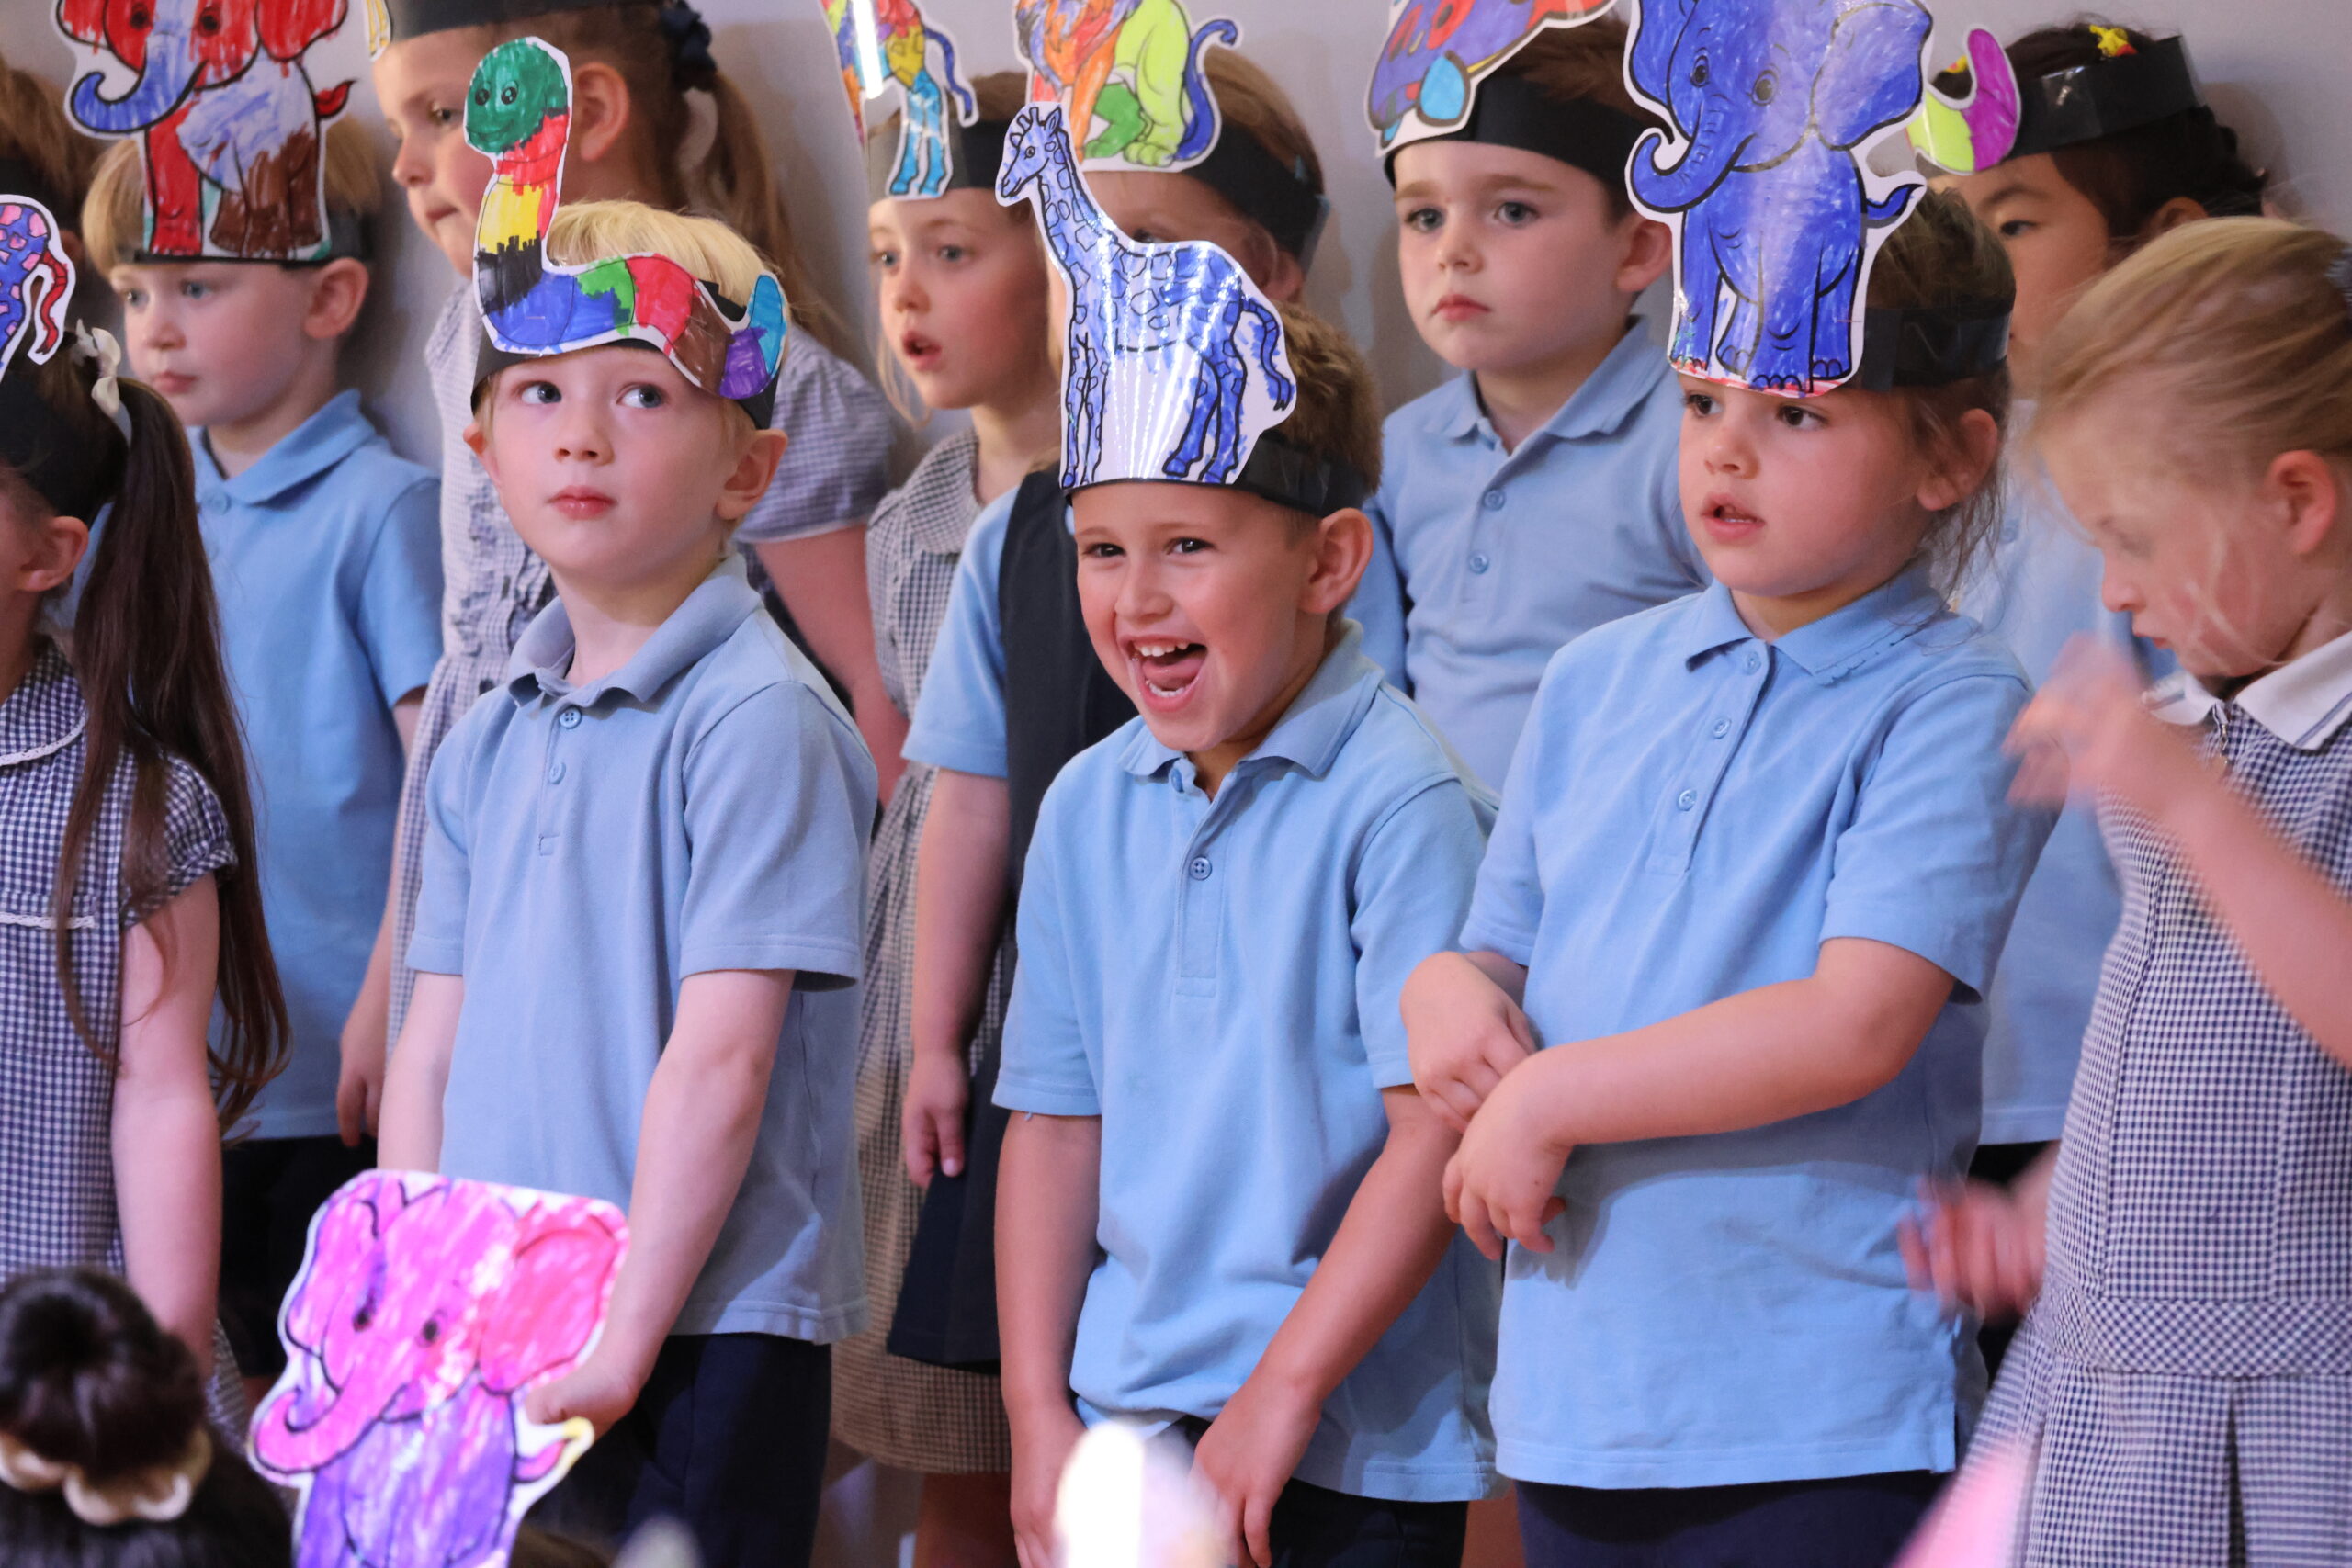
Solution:
M 981 132 L 1002 136 L 1023 87 L 1011 71 L 974 82 L 981 125 L 964 132 L 967 150 Z M 896 118 L 870 141 L 896 148 Z M 1044 249 L 1028 209 L 997 205 L 985 186 L 936 200 L 877 200 L 868 214 L 891 362 L 927 407 L 971 411 L 971 428 L 934 447 L 866 531 L 875 651 L 901 712 L 915 710 L 981 505 L 1061 444 Z M 981 1016 L 953 1020 L 953 1039 L 929 1041 L 943 1048 L 915 1044 L 915 846 L 936 778 L 908 764 L 875 830 L 868 870 L 856 1131 L 873 1326 L 833 1347 L 833 1432 L 863 1455 L 924 1474 L 920 1561 L 985 1563 L 1011 1559 L 1011 1439 L 997 1380 L 891 1354 L 910 1349 L 910 1326 L 894 1321 L 901 1300 L 929 1293 L 922 1316 L 934 1321 L 948 1309 L 943 1281 L 906 1276 L 908 1253 L 924 1190 L 938 1173 L 962 1175 L 971 1063 L 993 1048 L 1011 987 L 1011 954 L 1000 950 Z

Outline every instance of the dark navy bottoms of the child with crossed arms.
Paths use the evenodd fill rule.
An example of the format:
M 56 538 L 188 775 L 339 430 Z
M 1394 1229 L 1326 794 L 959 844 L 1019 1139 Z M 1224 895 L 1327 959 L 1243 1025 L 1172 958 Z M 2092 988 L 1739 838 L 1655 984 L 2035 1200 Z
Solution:
M 1604 1490 L 1519 1481 L 1526 1568 L 1886 1568 L 1945 1476 Z

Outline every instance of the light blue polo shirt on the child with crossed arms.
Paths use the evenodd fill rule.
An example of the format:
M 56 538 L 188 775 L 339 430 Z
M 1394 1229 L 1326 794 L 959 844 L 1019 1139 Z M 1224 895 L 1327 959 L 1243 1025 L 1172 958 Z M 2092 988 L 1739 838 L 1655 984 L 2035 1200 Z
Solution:
M 1576 1150 L 1555 1251 L 1508 1260 L 1503 1474 L 1952 1469 L 1959 1389 L 1983 1371 L 1905 1281 L 1896 1225 L 1976 1143 L 1976 997 L 2049 832 L 2009 804 L 2002 736 L 2025 698 L 2016 661 L 1917 569 L 1776 644 L 1717 585 L 1552 658 L 1461 938 L 1529 969 L 1538 1041 L 1799 980 L 1839 936 L 1957 987 L 1853 1105 Z

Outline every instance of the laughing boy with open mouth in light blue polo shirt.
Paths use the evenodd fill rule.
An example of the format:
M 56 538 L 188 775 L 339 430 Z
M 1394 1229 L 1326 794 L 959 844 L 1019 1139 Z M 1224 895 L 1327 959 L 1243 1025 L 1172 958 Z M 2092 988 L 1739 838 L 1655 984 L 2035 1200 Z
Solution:
M 1021 884 L 997 1300 L 1028 1561 L 1103 1418 L 1197 1443 L 1228 1563 L 1456 1568 L 1494 1486 L 1498 1281 L 1442 1213 L 1454 1133 L 1397 1020 L 1491 799 L 1338 616 L 1371 386 L 1282 322 L 1298 404 L 1232 487 L 1073 498 L 1087 632 L 1141 717 L 1054 780 Z

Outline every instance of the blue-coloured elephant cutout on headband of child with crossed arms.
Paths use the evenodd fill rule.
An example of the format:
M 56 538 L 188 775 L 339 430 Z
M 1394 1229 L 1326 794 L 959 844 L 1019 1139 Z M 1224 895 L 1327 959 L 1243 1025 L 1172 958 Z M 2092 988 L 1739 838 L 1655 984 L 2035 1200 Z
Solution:
M 1625 85 L 1672 132 L 1625 165 L 1675 230 L 1675 369 L 1811 397 L 1863 355 L 1879 244 L 1926 188 L 1877 174 L 1926 89 L 1917 0 L 1632 0 Z

